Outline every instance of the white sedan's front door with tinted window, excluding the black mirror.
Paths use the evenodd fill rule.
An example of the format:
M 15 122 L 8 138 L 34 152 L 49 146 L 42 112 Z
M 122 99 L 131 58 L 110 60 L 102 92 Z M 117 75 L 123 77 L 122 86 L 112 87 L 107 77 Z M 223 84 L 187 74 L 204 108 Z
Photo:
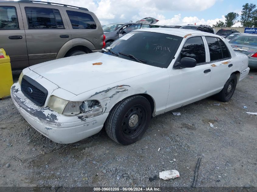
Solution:
M 179 108 L 206 97 L 209 89 L 211 69 L 206 62 L 207 48 L 202 37 L 191 37 L 186 40 L 170 73 L 170 88 L 166 111 Z M 179 68 L 180 59 L 196 59 L 193 68 Z

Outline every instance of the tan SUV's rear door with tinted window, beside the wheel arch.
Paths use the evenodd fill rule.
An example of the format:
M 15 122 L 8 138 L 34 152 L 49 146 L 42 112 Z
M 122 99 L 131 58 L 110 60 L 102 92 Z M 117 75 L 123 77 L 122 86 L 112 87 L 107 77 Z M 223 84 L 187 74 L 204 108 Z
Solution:
M 43 5 L 43 7 L 42 7 Z M 21 3 L 30 66 L 56 59 L 71 32 L 61 7 Z

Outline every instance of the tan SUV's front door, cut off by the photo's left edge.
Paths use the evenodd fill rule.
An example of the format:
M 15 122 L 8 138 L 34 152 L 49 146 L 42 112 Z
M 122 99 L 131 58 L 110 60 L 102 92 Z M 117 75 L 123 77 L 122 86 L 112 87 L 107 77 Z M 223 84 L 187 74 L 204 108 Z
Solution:
M 12 69 L 29 66 L 26 36 L 18 3 L 0 2 L 0 46 L 11 59 Z

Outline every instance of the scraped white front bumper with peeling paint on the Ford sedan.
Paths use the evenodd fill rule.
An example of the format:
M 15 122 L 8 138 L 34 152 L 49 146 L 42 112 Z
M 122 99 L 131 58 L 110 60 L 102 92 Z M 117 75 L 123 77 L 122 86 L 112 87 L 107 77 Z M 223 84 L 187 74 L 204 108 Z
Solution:
M 11 88 L 11 97 L 25 120 L 38 132 L 56 143 L 74 143 L 98 133 L 109 114 L 102 113 L 91 118 L 62 115 L 49 107 L 34 104 L 21 92 L 18 82 Z

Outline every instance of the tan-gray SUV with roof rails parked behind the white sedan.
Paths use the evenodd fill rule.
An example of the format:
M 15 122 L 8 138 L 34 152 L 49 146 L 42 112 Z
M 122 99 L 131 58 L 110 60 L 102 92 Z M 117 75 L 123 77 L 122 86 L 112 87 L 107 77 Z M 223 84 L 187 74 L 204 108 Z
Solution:
M 29 0 L 0 0 L 0 37 L 12 70 L 97 52 L 104 45 L 102 26 L 87 8 Z

